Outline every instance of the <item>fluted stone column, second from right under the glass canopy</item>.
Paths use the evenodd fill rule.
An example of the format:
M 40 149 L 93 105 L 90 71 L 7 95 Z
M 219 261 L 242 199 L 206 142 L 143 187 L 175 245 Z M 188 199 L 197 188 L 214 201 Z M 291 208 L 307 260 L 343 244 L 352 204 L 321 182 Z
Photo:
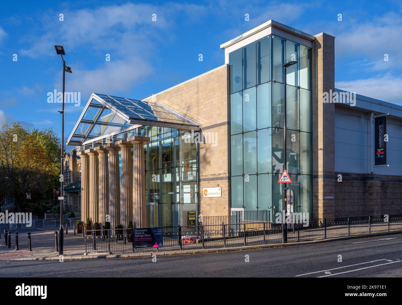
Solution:
M 133 219 L 133 177 L 131 174 L 131 145 L 127 141 L 116 142 L 120 147 L 120 223 L 127 228 L 130 220 Z

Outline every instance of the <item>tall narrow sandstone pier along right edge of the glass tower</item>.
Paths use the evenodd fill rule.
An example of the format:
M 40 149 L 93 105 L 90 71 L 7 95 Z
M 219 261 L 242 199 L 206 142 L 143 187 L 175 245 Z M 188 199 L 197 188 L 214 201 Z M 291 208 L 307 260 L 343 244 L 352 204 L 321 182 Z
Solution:
M 323 94 L 335 91 L 335 37 L 315 36 L 312 60 L 313 217 L 335 217 L 335 104 Z

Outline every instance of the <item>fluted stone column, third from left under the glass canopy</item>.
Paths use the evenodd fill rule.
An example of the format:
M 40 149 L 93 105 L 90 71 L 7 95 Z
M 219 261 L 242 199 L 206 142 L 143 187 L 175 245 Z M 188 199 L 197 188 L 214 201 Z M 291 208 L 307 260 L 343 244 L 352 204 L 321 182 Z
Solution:
M 106 215 L 109 215 L 109 161 L 107 149 L 101 146 L 95 147 L 94 152 L 98 153 L 99 160 L 99 223 L 105 224 Z

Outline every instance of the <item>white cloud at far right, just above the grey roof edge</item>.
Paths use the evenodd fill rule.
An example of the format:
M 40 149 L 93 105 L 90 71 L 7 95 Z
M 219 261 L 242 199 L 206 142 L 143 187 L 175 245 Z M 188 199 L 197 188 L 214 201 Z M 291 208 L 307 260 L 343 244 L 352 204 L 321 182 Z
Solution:
M 335 82 L 335 87 L 402 106 L 402 76 L 375 76 Z

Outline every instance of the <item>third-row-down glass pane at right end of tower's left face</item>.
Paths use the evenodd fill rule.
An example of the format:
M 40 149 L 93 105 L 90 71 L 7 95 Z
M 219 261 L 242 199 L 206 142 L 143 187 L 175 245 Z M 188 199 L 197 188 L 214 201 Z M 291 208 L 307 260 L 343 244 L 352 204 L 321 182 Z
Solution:
M 268 173 L 272 170 L 271 130 L 271 128 L 267 128 L 257 132 L 258 174 Z

